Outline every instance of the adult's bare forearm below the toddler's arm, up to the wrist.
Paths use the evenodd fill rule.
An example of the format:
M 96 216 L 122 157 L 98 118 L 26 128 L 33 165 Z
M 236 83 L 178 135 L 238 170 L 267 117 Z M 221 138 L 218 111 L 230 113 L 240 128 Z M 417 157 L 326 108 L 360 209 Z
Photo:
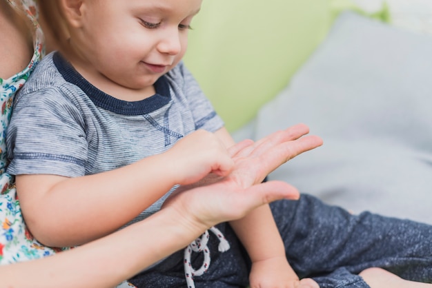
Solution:
M 1 266 L 0 287 L 115 287 L 186 247 L 207 228 L 188 221 L 175 209 L 163 209 L 146 220 L 70 251 Z

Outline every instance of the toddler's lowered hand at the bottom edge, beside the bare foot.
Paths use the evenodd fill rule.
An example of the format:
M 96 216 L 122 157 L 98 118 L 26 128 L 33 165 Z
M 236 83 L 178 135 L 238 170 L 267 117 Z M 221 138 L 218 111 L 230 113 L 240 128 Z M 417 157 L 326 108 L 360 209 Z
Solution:
M 252 263 L 249 282 L 251 288 L 320 288 L 310 278 L 300 280 L 284 256 Z

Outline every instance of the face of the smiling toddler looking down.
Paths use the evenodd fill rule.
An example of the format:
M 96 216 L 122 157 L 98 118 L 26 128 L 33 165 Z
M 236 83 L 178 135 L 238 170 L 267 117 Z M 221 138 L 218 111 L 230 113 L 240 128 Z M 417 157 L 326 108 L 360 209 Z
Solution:
M 72 28 L 70 40 L 79 70 L 97 81 L 134 90 L 148 88 L 184 56 L 188 28 L 201 3 L 83 0 L 79 25 Z

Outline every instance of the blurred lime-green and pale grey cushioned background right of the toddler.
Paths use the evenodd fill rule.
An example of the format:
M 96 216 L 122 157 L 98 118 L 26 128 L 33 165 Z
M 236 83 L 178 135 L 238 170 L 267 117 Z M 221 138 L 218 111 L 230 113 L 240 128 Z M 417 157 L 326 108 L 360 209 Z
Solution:
M 432 0 L 204 1 L 192 24 L 185 63 L 237 141 L 323 138 L 270 180 L 432 223 Z

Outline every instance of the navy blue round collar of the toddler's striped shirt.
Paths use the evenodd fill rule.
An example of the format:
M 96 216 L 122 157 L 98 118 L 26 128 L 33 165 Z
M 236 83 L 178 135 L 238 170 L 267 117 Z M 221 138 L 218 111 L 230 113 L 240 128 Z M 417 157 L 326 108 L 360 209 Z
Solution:
M 161 76 L 154 84 L 156 90 L 155 95 L 141 101 L 129 102 L 119 100 L 97 89 L 90 82 L 84 79 L 84 77 L 81 76 L 81 74 L 79 74 L 59 52 L 55 52 L 52 56 L 52 61 L 63 78 L 83 90 L 95 105 L 117 114 L 148 114 L 164 107 L 164 105 L 168 104 L 171 100 L 170 88 L 165 76 Z

